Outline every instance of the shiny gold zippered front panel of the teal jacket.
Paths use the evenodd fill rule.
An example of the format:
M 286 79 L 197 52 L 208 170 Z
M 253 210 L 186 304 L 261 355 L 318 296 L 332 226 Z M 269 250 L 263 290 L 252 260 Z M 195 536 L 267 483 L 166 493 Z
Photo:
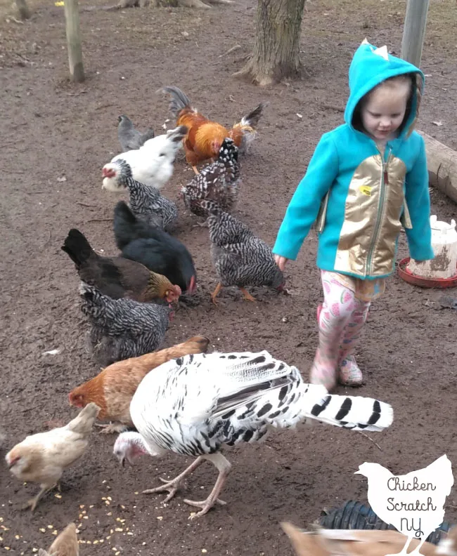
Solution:
M 388 183 L 384 180 L 385 171 Z M 405 204 L 405 176 L 402 160 L 391 156 L 383 167 L 380 154 L 363 160 L 356 168 L 338 242 L 337 272 L 350 272 L 359 277 L 392 272 Z M 408 213 L 406 206 L 405 213 Z

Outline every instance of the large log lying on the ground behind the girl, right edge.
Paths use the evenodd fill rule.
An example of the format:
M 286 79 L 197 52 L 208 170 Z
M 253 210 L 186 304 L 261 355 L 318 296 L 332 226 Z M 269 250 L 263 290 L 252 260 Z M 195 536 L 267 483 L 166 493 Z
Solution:
M 457 203 L 457 152 L 419 131 L 425 140 L 430 185 Z

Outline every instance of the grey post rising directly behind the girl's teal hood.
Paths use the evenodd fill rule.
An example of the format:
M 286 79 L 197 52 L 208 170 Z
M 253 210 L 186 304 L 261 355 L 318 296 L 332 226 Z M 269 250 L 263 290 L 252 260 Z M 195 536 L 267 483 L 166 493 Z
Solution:
M 408 0 L 401 39 L 401 58 L 420 67 L 430 0 Z

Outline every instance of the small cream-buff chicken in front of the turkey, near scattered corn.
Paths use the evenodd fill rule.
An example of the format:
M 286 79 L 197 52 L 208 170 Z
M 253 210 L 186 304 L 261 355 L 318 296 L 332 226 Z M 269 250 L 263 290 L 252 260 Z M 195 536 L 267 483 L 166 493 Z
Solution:
M 56 487 L 64 470 L 86 451 L 99 409 L 89 404 L 64 427 L 27 436 L 6 454 L 13 475 L 21 481 L 40 483 L 41 490 L 26 506 L 32 512 L 41 496 Z

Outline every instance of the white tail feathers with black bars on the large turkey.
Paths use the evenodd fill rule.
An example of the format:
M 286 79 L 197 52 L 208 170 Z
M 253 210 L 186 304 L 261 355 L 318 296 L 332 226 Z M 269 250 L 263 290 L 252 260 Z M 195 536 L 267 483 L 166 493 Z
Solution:
M 318 385 L 307 385 L 304 416 L 352 430 L 379 432 L 392 425 L 394 410 L 389 404 L 362 396 L 326 394 L 321 399 L 317 399 L 320 392 L 318 390 L 313 392 L 313 387 L 316 386 L 323 388 Z M 312 403 L 313 398 L 314 403 Z

